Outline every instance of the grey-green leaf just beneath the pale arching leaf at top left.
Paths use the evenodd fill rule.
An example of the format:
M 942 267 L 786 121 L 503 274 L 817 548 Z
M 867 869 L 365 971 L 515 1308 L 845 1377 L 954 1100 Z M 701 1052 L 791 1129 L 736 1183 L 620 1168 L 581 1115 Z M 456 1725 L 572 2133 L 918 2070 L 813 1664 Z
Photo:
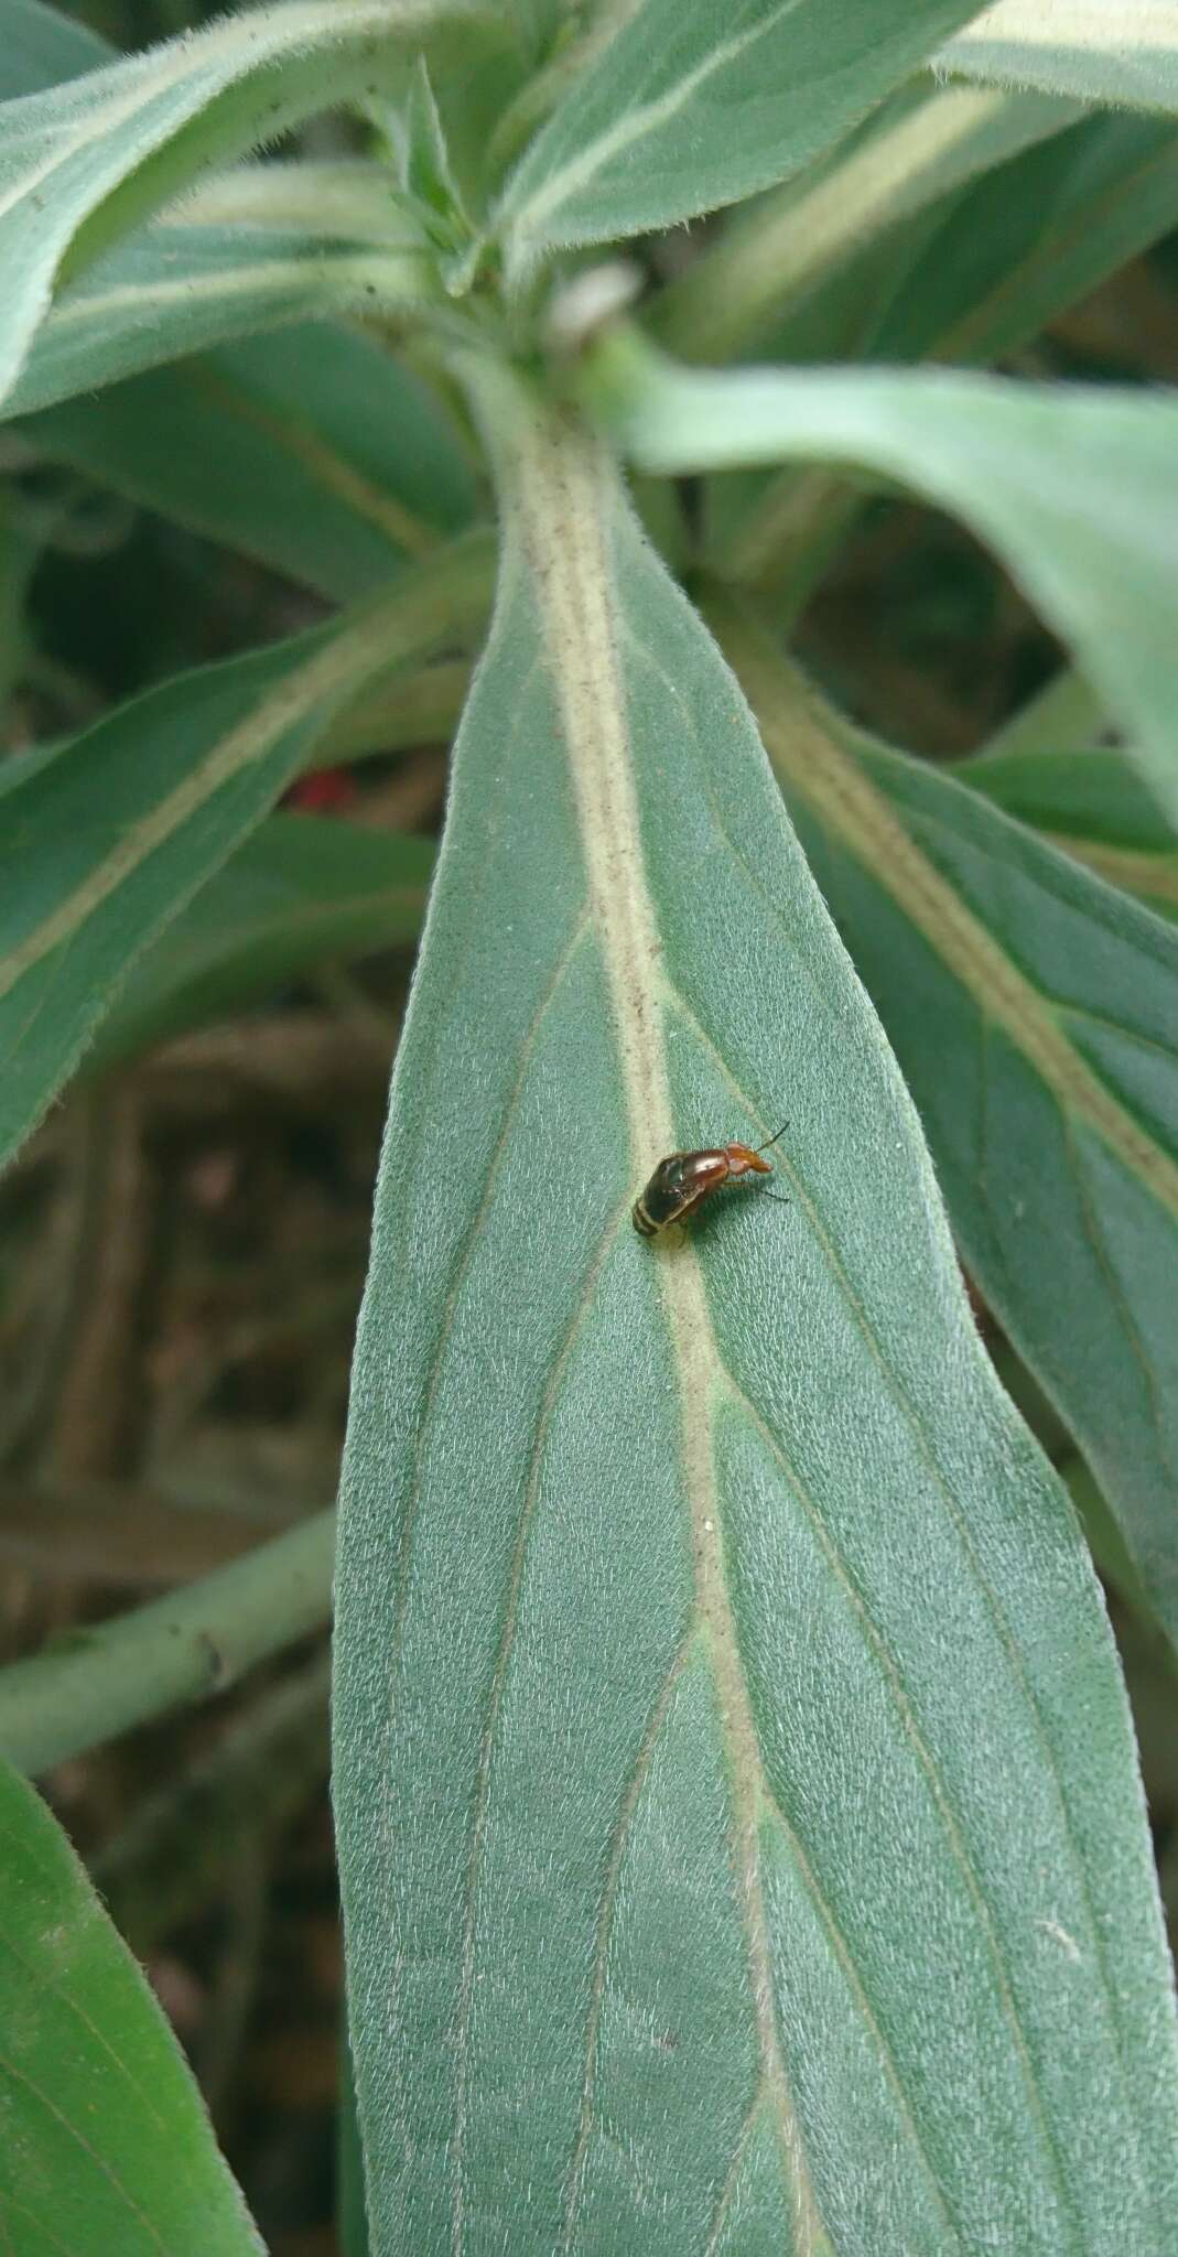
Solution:
M 226 339 L 327 314 L 429 305 L 436 262 L 402 246 L 262 228 L 149 228 L 61 291 L 0 415 L 25 415 Z

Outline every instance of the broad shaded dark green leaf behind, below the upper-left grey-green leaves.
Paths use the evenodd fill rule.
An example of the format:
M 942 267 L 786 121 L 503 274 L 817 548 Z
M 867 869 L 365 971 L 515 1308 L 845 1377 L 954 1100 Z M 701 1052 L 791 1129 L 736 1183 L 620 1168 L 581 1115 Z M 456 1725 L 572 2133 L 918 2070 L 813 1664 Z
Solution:
M 384 587 L 474 515 L 474 476 L 438 402 L 336 323 L 226 345 L 18 431 L 336 600 Z

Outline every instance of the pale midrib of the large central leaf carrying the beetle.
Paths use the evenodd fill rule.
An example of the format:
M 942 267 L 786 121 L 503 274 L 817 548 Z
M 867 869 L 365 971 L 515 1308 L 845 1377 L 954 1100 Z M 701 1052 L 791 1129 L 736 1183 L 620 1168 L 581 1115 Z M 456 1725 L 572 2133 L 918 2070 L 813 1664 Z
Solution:
M 657 919 L 639 860 L 634 779 L 603 524 L 603 506 L 612 499 L 612 490 L 605 458 L 573 427 L 557 420 L 542 422 L 537 411 L 535 420 L 519 431 L 508 499 L 533 567 L 542 643 L 564 722 L 589 896 L 614 1000 L 634 1174 L 641 1178 L 663 1151 L 675 1149 L 675 1117 L 657 1007 Z M 659 1257 L 654 1255 L 654 1259 Z M 659 1277 L 679 1370 L 684 1485 L 697 1578 L 695 1611 L 711 1643 L 727 1747 L 733 1864 L 749 1955 L 761 2074 L 774 2099 L 797 2250 L 799 2257 L 808 2257 L 828 2243 L 815 2205 L 776 2031 L 758 1851 L 758 1812 L 767 1783 L 718 1535 L 713 1404 L 720 1359 L 691 1241 L 668 1250 Z

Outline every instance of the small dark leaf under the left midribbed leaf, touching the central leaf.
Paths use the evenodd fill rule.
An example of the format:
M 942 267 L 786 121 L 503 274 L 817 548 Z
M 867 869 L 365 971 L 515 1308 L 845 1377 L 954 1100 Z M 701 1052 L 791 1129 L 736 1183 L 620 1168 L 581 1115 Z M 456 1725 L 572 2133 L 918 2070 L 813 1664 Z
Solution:
M 318 964 L 415 941 L 429 840 L 271 815 L 138 959 L 88 1065 L 228 1018 Z

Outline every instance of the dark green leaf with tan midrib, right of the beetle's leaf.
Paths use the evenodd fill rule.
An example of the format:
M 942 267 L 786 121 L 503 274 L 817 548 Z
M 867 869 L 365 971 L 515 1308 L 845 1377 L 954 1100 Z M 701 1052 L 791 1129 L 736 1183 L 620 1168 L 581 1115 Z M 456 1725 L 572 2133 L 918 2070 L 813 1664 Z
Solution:
M 720 621 L 964 1259 L 1178 1648 L 1178 934 Z

